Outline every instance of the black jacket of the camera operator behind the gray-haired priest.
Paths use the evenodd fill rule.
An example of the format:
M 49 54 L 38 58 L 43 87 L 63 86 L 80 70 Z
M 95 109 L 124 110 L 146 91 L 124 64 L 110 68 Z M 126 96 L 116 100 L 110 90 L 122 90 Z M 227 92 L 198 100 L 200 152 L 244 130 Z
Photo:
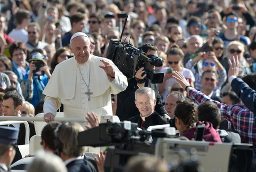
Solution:
M 149 81 L 145 83 L 145 86 L 148 86 L 155 91 L 155 97 L 156 97 L 155 111 L 161 116 L 163 116 L 164 114 L 168 114 L 162 105 L 162 99 L 158 92 L 157 84 L 151 84 Z M 134 93 L 138 88 L 139 87 L 137 86 L 137 81 L 133 78 L 128 81 L 128 86 L 126 90 L 117 94 L 116 115 L 119 117 L 120 121 L 128 120 L 129 118 L 140 114 L 134 102 L 135 101 Z

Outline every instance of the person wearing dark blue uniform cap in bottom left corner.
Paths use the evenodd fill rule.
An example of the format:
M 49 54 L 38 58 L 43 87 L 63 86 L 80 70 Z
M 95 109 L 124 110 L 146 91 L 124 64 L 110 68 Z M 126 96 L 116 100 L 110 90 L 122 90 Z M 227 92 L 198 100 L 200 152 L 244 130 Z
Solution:
M 10 172 L 10 165 L 16 154 L 19 129 L 0 126 L 0 172 Z

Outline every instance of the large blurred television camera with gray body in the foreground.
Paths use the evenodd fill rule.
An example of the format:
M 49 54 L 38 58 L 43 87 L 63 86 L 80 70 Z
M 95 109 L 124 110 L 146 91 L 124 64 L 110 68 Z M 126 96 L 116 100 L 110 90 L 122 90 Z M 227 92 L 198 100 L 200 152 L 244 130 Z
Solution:
M 251 170 L 252 144 L 184 141 L 160 131 L 139 131 L 137 126 L 137 123 L 130 121 L 101 123 L 98 127 L 80 132 L 78 144 L 110 146 L 105 167 L 112 172 L 122 172 L 131 156 L 142 154 L 161 157 L 170 168 L 196 156 L 204 172 L 250 172 Z M 150 135 L 157 139 L 156 142 L 147 142 Z

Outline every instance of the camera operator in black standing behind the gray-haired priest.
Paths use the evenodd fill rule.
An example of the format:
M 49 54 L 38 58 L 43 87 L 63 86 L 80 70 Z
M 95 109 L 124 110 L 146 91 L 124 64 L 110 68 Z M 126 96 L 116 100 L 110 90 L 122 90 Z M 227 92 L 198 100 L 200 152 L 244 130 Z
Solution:
M 148 55 L 158 56 L 157 48 L 149 43 L 146 43 L 139 47 L 138 49 L 143 50 Z M 135 115 L 140 114 L 138 108 L 135 105 L 135 91 L 140 87 L 150 87 L 155 92 L 156 105 L 155 111 L 161 115 L 167 115 L 166 110 L 162 105 L 161 96 L 158 92 L 157 84 L 152 84 L 149 79 L 146 79 L 143 82 L 143 79 L 146 78 L 144 70 L 153 71 L 155 69 L 154 65 L 151 65 L 149 62 L 146 62 L 145 67 L 141 67 L 135 74 L 135 77 L 128 81 L 128 87 L 126 90 L 117 94 L 117 110 L 116 115 L 120 118 L 120 121 L 127 120 Z M 139 82 L 138 82 L 139 81 Z M 142 82 L 140 82 L 142 81 Z

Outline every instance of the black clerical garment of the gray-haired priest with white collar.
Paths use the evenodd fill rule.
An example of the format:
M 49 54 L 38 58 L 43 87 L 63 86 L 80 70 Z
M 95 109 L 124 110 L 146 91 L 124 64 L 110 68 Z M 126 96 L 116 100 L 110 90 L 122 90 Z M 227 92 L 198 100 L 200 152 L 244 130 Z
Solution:
M 153 112 L 153 114 L 145 118 L 145 122 L 143 122 L 141 115 L 136 115 L 130 118 L 129 121 L 137 123 L 138 127 L 142 129 L 147 129 L 147 127 L 153 126 L 153 125 L 169 124 L 169 122 L 167 122 L 165 118 L 157 114 L 155 111 Z

